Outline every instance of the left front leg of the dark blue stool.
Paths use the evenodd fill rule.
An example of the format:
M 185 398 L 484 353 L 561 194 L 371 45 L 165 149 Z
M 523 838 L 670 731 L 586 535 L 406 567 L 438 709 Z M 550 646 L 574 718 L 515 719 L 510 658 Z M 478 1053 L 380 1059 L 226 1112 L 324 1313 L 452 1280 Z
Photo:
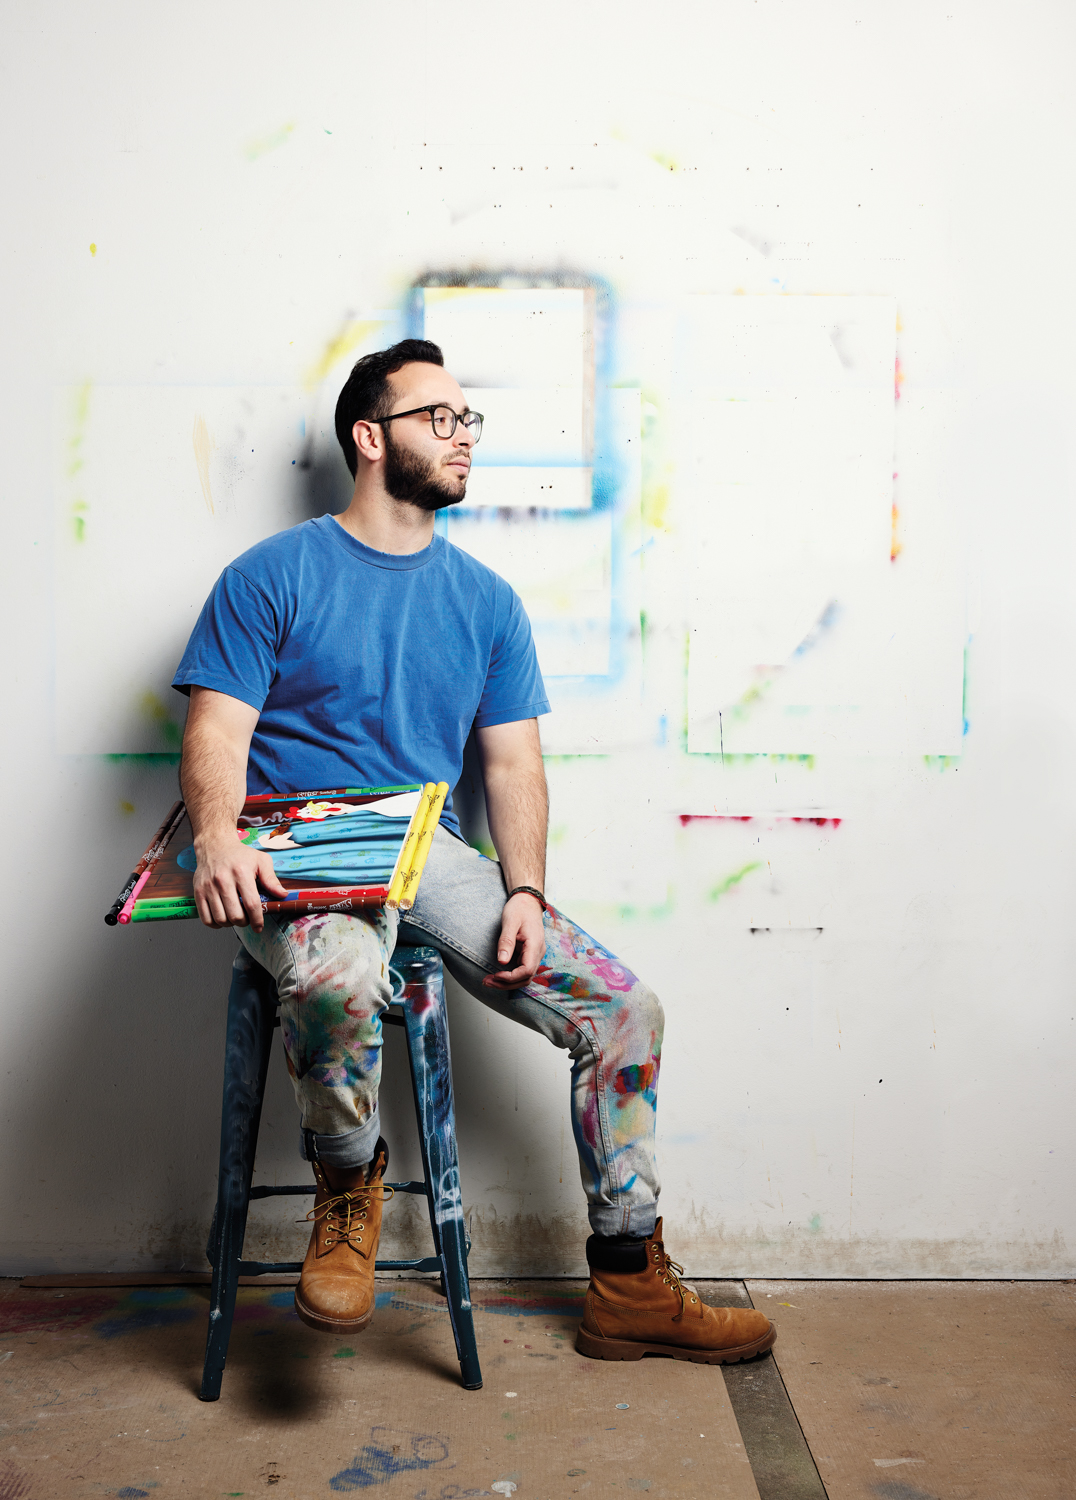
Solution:
M 213 1263 L 206 1365 L 201 1400 L 221 1395 L 228 1356 L 231 1318 L 239 1290 L 239 1262 L 246 1234 L 254 1154 L 258 1144 L 261 1100 L 266 1092 L 269 1053 L 273 1044 L 276 986 L 248 954 L 240 954 L 228 992 L 228 1040 L 224 1052 L 224 1101 L 221 1106 L 221 1166 L 209 1257 Z

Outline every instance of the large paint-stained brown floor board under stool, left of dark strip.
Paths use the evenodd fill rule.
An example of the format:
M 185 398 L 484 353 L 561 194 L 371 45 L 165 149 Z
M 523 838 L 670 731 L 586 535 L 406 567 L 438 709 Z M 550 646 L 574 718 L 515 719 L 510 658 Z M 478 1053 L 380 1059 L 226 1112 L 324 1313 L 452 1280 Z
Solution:
M 476 1287 L 468 1392 L 429 1284 L 384 1282 L 350 1341 L 305 1328 L 288 1288 L 243 1288 L 204 1404 L 206 1288 L 8 1284 L 0 1496 L 758 1500 L 720 1366 L 581 1358 L 582 1290 Z

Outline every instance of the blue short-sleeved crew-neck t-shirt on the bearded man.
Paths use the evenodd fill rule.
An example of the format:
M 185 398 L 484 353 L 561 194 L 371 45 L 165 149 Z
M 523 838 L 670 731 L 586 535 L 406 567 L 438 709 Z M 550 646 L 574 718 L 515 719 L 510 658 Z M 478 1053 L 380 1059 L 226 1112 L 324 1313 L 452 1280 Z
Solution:
M 455 786 L 471 724 L 548 714 L 530 621 L 491 568 L 443 537 L 398 556 L 332 516 L 224 570 L 173 687 L 261 714 L 248 796 L 345 786 Z M 452 795 L 441 822 L 459 832 Z

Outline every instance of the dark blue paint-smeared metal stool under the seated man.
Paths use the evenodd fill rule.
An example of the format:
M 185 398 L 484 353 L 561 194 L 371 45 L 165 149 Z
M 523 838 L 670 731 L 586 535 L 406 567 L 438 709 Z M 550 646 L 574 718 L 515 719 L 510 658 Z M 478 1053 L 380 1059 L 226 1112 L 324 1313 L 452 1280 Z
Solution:
M 467 1281 L 470 1242 L 464 1227 L 456 1156 L 456 1119 L 452 1106 L 449 1018 L 444 1010 L 444 975 L 434 948 L 396 948 L 390 964 L 392 1004 L 383 1023 L 402 1026 L 411 1064 L 414 1112 L 419 1120 L 423 1182 L 393 1182 L 396 1192 L 422 1192 L 429 1203 L 434 1254 L 422 1260 L 378 1260 L 378 1270 L 440 1270 L 456 1340 L 459 1371 L 467 1390 L 482 1388 L 479 1350 L 474 1342 L 471 1293 Z M 246 1210 L 251 1198 L 276 1194 L 314 1194 L 302 1188 L 252 1188 L 254 1155 L 258 1146 L 261 1101 L 266 1092 L 269 1053 L 276 1016 L 276 984 L 272 975 L 240 950 L 228 993 L 228 1040 L 224 1054 L 224 1107 L 221 1110 L 221 1170 L 216 1209 L 206 1254 L 213 1266 L 206 1365 L 201 1400 L 221 1395 L 228 1356 L 231 1320 L 240 1275 L 269 1270 L 302 1270 L 302 1262 L 243 1260 Z

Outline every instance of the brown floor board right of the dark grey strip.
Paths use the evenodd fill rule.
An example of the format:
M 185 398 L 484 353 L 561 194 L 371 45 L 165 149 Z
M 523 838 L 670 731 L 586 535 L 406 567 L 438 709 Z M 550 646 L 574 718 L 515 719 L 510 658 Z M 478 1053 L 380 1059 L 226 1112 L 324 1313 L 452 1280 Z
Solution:
M 1071 1500 L 1071 1282 L 749 1281 L 830 1500 Z

